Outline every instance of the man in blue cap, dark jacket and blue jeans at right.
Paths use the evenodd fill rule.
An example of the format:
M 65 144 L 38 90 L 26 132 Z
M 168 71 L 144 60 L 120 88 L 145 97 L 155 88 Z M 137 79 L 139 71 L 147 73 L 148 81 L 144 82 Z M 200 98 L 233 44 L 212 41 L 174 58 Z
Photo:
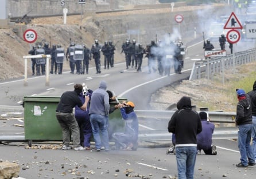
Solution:
M 236 105 L 235 123 L 238 125 L 238 148 L 241 162 L 236 167 L 247 167 L 255 165 L 253 150 L 251 149 L 251 131 L 253 128 L 251 115 L 251 101 L 245 90 L 236 89 L 238 104 Z

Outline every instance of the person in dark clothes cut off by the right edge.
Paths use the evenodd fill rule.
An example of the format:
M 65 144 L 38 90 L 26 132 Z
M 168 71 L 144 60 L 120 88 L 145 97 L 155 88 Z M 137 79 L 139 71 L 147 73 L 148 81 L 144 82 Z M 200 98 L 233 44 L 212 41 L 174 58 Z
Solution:
M 253 115 L 253 130 L 251 132 L 251 138 L 253 138 L 253 154 L 256 161 L 256 81 L 253 84 L 253 90 L 247 93 L 251 99 L 251 111 Z

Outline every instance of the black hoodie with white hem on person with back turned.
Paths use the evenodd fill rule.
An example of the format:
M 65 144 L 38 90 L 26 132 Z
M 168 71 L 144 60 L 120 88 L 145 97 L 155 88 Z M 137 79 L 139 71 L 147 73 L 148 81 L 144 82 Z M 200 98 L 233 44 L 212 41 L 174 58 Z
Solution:
M 176 146 L 196 146 L 196 135 L 202 131 L 199 114 L 192 110 L 191 99 L 182 97 L 177 111 L 168 124 L 168 132 L 175 134 Z

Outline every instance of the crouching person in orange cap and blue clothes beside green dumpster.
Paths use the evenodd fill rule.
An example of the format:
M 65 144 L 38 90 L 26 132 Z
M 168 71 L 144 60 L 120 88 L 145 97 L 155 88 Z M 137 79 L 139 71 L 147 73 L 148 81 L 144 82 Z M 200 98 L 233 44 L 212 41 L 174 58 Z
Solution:
M 138 147 L 138 117 L 134 112 L 134 104 L 131 101 L 118 104 L 123 120 L 125 120 L 125 132 L 114 133 L 115 147 L 123 150 L 137 150 Z

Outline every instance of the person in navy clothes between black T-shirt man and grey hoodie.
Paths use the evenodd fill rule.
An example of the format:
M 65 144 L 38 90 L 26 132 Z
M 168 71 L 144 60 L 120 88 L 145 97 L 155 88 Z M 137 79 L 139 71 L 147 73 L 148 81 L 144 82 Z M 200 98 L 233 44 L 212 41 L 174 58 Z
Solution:
M 88 89 L 88 92 L 86 94 L 83 94 L 82 92 L 78 95 L 78 97 L 84 103 L 85 102 L 84 95 L 89 96 L 91 99 L 92 92 L 93 91 L 91 89 Z M 86 150 L 91 149 L 90 140 L 91 140 L 91 134 L 92 134 L 92 127 L 91 127 L 91 122 L 89 118 L 89 108 L 90 108 L 90 100 L 88 101 L 86 110 L 80 109 L 77 105 L 75 106 L 75 118 L 80 129 L 80 144 Z

